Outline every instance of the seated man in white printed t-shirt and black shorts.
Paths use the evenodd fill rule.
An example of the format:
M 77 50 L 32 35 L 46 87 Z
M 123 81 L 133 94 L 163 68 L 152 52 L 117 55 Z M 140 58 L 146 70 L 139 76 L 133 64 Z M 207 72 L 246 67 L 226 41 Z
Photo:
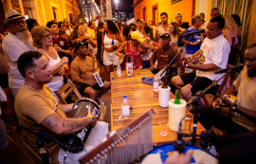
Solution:
M 227 67 L 230 46 L 227 39 L 222 35 L 225 20 L 221 16 L 210 19 L 208 24 L 207 38 L 200 49 L 195 52 L 184 66 L 196 70 L 196 73 L 185 73 L 175 76 L 171 82 L 181 90 L 181 95 L 186 100 L 191 100 L 192 95 L 198 90 L 206 89 L 213 81 L 220 79 L 223 74 L 214 74 L 214 70 Z M 194 59 L 198 64 L 193 64 Z M 219 81 L 220 85 L 222 81 Z

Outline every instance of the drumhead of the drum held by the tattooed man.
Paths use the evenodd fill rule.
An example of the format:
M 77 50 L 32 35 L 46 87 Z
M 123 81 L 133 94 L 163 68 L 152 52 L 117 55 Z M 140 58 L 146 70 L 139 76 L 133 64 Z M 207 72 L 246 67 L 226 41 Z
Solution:
M 73 110 L 71 112 L 70 118 L 82 118 L 86 117 L 88 114 L 88 109 L 91 108 L 92 114 L 96 118 L 100 118 L 101 109 L 98 103 L 94 100 L 83 98 L 77 100 L 73 105 Z

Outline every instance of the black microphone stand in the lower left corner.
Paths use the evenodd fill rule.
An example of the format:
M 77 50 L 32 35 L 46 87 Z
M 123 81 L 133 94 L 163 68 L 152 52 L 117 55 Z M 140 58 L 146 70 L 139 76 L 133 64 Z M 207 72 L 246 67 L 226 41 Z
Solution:
M 7 122 L 9 122 L 9 123 L 11 123 L 11 124 L 13 124 L 13 125 L 15 125 L 15 126 L 17 126 L 17 127 L 20 127 L 22 129 L 28 131 L 31 134 L 34 134 L 37 137 L 39 137 L 38 140 L 36 141 L 36 145 L 40 148 L 40 156 L 41 156 L 41 158 L 43 160 L 43 163 L 45 163 L 45 164 L 49 163 L 48 156 L 46 155 L 46 150 L 43 148 L 44 145 L 45 145 L 45 141 L 47 141 L 47 142 L 55 142 L 56 144 L 60 145 L 63 148 L 66 147 L 66 145 L 63 142 L 61 142 L 61 141 L 59 141 L 57 139 L 54 139 L 54 137 L 52 135 L 50 135 L 50 134 L 48 134 L 46 132 L 43 132 L 41 130 L 39 130 L 37 132 L 36 131 L 32 131 L 32 130 L 28 129 L 27 127 L 25 127 L 25 126 L 23 126 L 23 125 L 21 125 L 19 123 L 16 123 L 16 122 L 14 122 L 12 120 L 9 120 L 8 118 L 3 117 L 2 115 L 0 115 L 0 118 L 5 120 L 5 121 L 7 121 Z

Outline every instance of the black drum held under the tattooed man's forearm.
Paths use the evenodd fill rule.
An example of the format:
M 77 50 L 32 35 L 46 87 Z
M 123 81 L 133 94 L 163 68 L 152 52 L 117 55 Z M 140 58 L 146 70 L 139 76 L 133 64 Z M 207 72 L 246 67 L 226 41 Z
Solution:
M 101 109 L 100 109 L 99 105 L 97 104 L 97 102 L 94 100 L 86 99 L 86 98 L 84 98 L 82 100 L 77 100 L 74 103 L 70 118 L 86 117 L 88 114 L 88 109 L 91 109 L 92 114 L 96 118 L 100 118 Z M 93 127 L 91 125 L 87 125 L 84 128 L 82 128 L 81 131 L 79 131 L 77 133 L 64 135 L 64 136 L 59 137 L 58 139 L 62 143 L 65 143 L 65 145 L 70 145 L 69 152 L 78 153 L 78 152 L 82 151 L 83 145 L 85 144 L 86 139 L 89 136 L 92 128 Z M 63 148 L 64 148 L 64 151 L 66 151 L 67 147 L 64 146 Z

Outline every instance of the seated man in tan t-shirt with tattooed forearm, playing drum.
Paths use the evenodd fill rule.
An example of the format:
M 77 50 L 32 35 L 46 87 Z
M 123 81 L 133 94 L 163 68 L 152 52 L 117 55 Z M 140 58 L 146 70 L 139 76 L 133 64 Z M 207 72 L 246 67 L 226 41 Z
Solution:
M 42 130 L 54 137 L 73 134 L 88 124 L 101 126 L 101 121 L 97 123 L 90 110 L 83 118 L 66 117 L 65 112 L 71 111 L 73 104 L 59 104 L 51 94 L 46 83 L 51 81 L 52 75 L 46 58 L 40 52 L 23 53 L 18 59 L 18 69 L 25 78 L 25 84 L 18 92 L 14 104 L 20 124 L 33 131 Z M 27 137 L 28 145 L 39 154 L 39 148 L 36 146 L 38 137 L 26 130 L 24 135 Z M 59 153 L 64 151 L 57 144 L 46 142 L 44 148 L 52 163 L 63 163 L 64 156 Z M 82 153 L 85 154 L 86 151 Z M 78 160 L 79 158 L 74 155 L 76 154 L 68 155 L 67 159 Z

